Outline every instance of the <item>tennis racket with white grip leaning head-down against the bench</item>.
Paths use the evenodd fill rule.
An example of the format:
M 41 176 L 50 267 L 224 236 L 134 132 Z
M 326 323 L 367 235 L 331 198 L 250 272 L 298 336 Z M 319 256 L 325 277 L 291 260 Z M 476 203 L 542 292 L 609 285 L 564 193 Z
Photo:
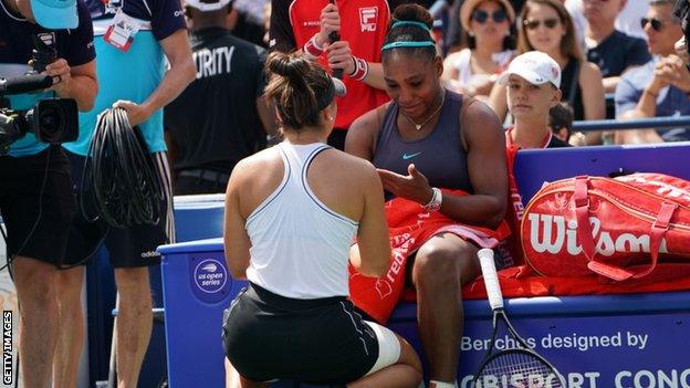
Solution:
M 544 357 L 532 350 L 527 343 L 518 335 L 505 311 L 503 295 L 493 262 L 493 251 L 480 250 L 477 255 L 484 275 L 484 285 L 489 304 L 493 312 L 493 334 L 487 356 L 472 380 L 473 388 L 565 388 L 561 374 Z M 499 321 L 515 339 L 512 348 L 494 352 Z M 511 342 L 506 342 L 510 346 Z M 506 347 L 508 347 L 506 346 Z

